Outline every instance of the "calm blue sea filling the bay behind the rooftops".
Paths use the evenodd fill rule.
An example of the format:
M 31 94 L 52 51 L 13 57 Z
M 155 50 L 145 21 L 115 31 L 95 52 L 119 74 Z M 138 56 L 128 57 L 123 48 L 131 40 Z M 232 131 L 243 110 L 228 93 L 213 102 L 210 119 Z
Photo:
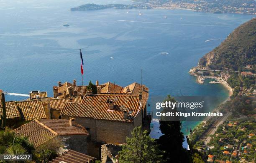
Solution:
M 82 84 L 82 49 L 84 83 L 141 83 L 142 69 L 142 83 L 150 89 L 150 96 L 218 96 L 212 108 L 228 97 L 222 85 L 197 84 L 188 71 L 252 15 L 160 9 L 69 10 L 89 2 L 131 3 L 1 0 L 0 89 L 21 94 L 40 90 L 53 96 L 52 86 L 58 81 L 77 79 Z M 64 27 L 66 23 L 70 26 Z M 6 99 L 26 97 L 7 95 Z M 197 124 L 186 123 L 183 131 Z

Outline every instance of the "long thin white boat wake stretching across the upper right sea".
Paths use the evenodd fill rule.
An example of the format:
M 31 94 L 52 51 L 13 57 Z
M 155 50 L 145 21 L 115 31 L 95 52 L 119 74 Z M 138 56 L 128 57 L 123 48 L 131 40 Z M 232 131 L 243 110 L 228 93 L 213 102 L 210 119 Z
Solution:
M 165 23 L 165 22 L 142 22 L 133 20 L 116 20 L 118 22 L 137 22 L 148 24 L 160 24 L 160 25 L 187 25 L 187 26 L 204 26 L 204 27 L 235 27 L 235 25 L 201 25 L 201 24 L 181 24 L 181 23 Z

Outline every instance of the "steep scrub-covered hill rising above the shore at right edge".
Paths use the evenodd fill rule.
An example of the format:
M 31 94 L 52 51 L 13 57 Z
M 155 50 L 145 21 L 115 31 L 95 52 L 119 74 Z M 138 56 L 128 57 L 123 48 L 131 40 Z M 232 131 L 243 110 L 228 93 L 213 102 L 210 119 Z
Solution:
M 246 64 L 256 64 L 255 18 L 236 28 L 220 46 L 205 54 L 198 67 L 241 70 Z

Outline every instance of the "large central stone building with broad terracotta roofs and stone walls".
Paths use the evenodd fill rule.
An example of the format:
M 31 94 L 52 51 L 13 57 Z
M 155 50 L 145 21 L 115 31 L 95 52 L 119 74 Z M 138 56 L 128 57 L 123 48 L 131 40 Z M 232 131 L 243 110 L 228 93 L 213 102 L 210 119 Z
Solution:
M 148 88 L 133 83 L 125 88 L 105 84 L 100 94 L 87 95 L 82 103 L 65 103 L 61 118 L 74 117 L 90 133 L 91 156 L 100 158 L 105 143 L 122 144 L 136 126 L 149 131 L 151 116 L 147 114 Z M 105 93 L 113 92 L 113 93 Z

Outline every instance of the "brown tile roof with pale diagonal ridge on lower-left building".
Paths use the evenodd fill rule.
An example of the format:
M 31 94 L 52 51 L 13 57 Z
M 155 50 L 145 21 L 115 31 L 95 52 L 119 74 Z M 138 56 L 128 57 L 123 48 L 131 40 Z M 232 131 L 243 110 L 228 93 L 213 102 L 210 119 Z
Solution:
M 81 125 L 69 126 L 67 119 L 33 120 L 13 131 L 18 135 L 27 136 L 28 140 L 36 147 L 57 135 L 89 134 Z

